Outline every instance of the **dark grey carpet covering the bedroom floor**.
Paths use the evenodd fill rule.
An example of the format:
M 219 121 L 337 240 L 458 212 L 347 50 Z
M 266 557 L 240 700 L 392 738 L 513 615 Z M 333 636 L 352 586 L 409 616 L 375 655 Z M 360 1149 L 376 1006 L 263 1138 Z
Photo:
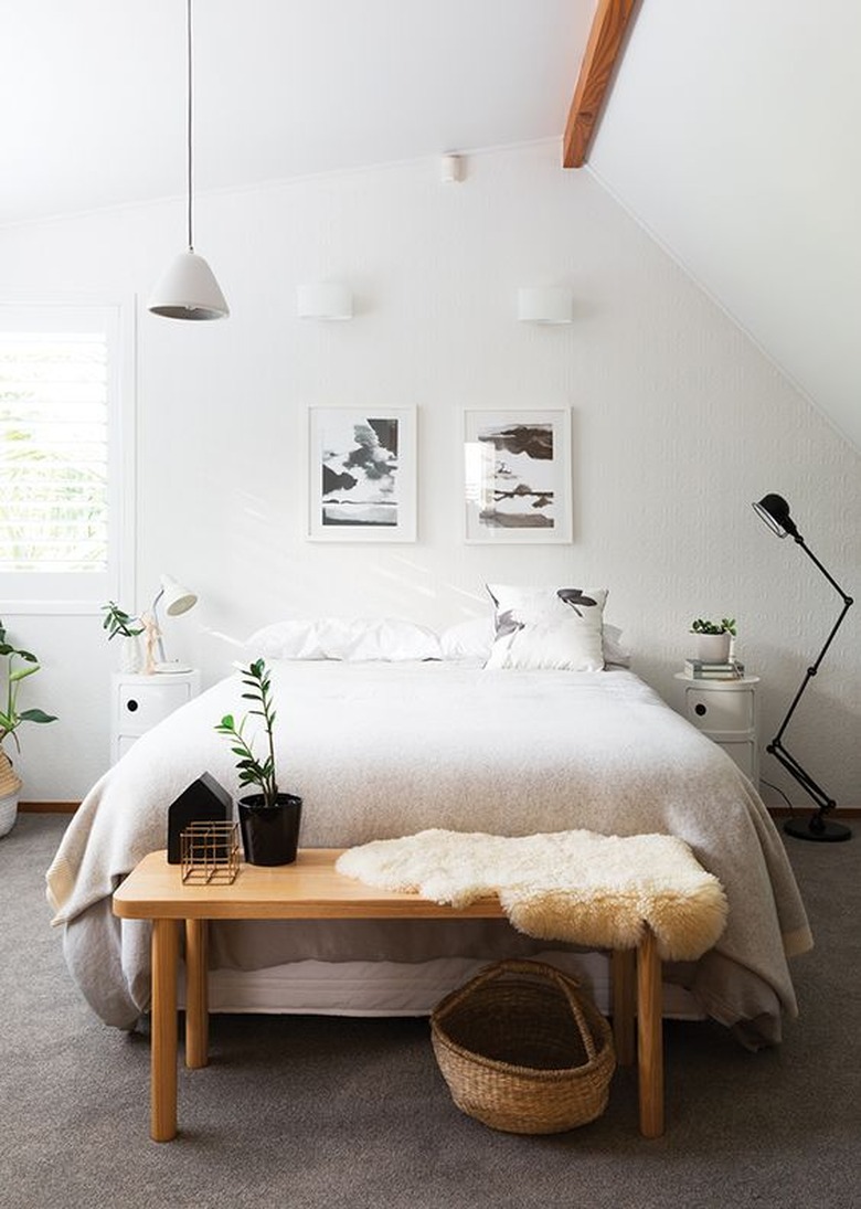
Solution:
M 457 1111 L 426 1020 L 214 1017 L 210 1066 L 180 1072 L 181 1136 L 158 1145 L 146 1036 L 93 1017 L 48 927 L 65 822 L 22 815 L 0 840 L 2 1209 L 861 1205 L 861 833 L 787 838 L 816 936 L 801 1018 L 759 1054 L 669 1023 L 657 1141 L 628 1071 L 591 1126 L 513 1136 Z

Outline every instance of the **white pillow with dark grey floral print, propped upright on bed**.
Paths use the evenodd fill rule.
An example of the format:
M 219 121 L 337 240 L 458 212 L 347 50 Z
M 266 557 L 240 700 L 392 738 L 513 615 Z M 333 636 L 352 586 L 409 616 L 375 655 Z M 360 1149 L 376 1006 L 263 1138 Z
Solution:
M 487 584 L 496 637 L 487 667 L 603 671 L 605 588 L 515 588 Z

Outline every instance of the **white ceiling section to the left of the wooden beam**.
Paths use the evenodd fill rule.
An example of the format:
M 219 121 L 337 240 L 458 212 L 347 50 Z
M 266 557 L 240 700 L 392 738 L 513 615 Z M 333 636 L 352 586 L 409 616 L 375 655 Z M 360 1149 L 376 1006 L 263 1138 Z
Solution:
M 595 0 L 195 0 L 195 180 L 557 137 Z M 0 222 L 185 190 L 185 0 L 0 0 Z

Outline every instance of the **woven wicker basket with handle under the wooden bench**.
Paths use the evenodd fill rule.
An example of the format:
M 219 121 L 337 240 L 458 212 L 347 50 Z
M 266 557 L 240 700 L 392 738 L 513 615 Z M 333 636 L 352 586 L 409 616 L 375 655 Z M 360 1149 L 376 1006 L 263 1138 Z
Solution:
M 609 1025 L 553 966 L 487 966 L 437 1005 L 431 1036 L 455 1104 L 493 1129 L 562 1133 L 607 1107 Z

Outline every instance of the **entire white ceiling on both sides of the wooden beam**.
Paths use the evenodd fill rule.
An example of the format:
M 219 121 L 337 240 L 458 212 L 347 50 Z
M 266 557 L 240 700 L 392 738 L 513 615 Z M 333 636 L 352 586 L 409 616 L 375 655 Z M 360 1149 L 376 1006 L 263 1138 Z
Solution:
M 595 8 L 195 0 L 196 186 L 561 145 Z M 183 193 L 184 0 L 0 29 L 0 224 Z M 641 0 L 586 169 L 859 450 L 860 50 L 857 0 Z

